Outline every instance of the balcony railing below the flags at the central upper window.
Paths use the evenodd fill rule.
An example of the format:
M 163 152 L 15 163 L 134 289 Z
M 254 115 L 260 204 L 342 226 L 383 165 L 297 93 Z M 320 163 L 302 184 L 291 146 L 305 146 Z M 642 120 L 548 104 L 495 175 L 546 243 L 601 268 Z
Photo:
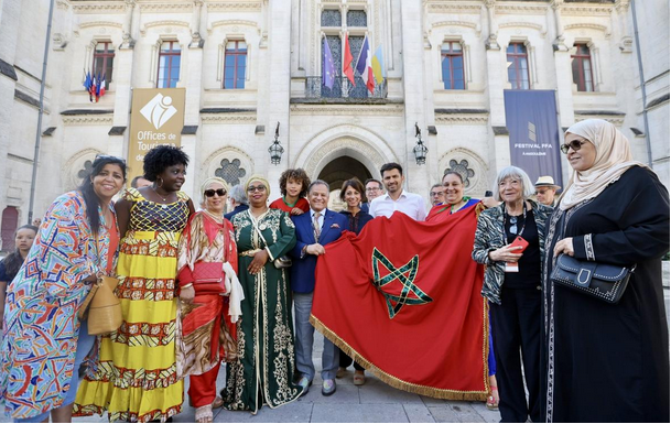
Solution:
M 322 77 L 307 77 L 305 81 L 305 97 L 311 99 L 386 99 L 387 79 L 376 84 L 372 94 L 368 91 L 364 78 L 355 77 L 351 84 L 347 77 L 336 77 L 333 88 L 322 85 Z

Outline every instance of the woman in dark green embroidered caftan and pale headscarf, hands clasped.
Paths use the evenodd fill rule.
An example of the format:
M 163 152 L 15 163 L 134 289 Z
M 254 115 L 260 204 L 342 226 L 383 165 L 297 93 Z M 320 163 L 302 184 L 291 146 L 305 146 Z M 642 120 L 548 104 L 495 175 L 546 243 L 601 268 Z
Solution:
M 256 414 L 263 403 L 293 402 L 302 388 L 293 383 L 295 355 L 289 273 L 274 260 L 296 242 L 289 214 L 268 207 L 270 184 L 259 175 L 247 184 L 249 209 L 232 217 L 238 246 L 238 278 L 245 300 L 237 323 L 238 358 L 227 363 L 224 405 Z

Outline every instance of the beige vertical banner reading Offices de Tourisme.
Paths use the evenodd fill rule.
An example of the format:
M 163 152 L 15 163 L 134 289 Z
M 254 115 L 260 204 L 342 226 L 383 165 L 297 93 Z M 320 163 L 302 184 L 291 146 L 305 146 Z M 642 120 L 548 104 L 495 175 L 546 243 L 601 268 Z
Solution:
M 142 175 L 147 152 L 161 144 L 180 146 L 185 88 L 134 88 L 130 112 L 128 181 Z

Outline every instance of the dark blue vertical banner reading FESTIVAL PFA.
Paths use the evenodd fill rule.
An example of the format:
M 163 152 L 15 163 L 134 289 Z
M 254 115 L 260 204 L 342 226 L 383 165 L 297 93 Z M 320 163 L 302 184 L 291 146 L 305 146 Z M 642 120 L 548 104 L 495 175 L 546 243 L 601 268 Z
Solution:
M 531 182 L 550 175 L 562 185 L 560 133 L 553 90 L 505 90 L 510 162 Z

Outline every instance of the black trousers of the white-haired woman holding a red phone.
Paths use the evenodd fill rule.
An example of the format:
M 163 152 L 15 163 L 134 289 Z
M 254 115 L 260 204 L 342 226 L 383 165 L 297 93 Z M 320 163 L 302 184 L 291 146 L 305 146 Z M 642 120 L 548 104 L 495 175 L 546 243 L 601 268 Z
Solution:
M 502 289 L 501 304 L 490 304 L 502 423 L 523 423 L 527 416 L 534 423 L 541 420 L 541 291 L 535 287 Z M 529 406 L 522 382 L 520 349 L 529 390 Z

